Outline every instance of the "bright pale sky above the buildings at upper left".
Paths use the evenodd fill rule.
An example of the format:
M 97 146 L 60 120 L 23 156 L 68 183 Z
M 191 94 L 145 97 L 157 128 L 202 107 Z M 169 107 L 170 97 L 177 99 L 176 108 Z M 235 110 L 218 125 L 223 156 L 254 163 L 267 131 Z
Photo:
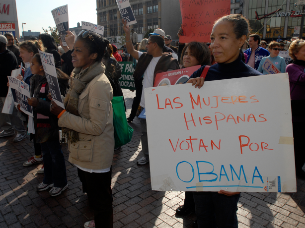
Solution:
M 96 0 L 16 0 L 19 34 L 24 31 L 43 33 L 42 27 L 55 27 L 51 10 L 68 4 L 69 27 L 77 26 L 77 22 L 87 21 L 97 24 Z

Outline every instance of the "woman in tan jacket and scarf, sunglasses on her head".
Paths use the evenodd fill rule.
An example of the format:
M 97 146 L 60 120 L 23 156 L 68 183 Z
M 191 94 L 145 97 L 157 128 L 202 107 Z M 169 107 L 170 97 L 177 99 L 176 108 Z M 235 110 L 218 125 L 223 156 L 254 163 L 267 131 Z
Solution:
M 94 219 L 85 228 L 112 228 L 111 164 L 114 152 L 112 87 L 102 58 L 109 41 L 96 33 L 81 31 L 72 53 L 70 89 L 65 110 L 53 101 L 51 112 L 68 137 L 69 162 L 77 167 Z

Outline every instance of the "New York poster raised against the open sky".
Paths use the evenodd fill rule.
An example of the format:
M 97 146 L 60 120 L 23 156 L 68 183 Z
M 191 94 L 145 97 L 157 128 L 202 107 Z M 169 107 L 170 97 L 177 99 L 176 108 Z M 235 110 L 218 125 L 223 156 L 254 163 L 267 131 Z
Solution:
M 69 30 L 69 16 L 68 16 L 68 5 L 63 5 L 53 9 L 52 15 L 58 30 L 58 33 L 62 39 L 63 45 L 66 44 L 66 31 Z

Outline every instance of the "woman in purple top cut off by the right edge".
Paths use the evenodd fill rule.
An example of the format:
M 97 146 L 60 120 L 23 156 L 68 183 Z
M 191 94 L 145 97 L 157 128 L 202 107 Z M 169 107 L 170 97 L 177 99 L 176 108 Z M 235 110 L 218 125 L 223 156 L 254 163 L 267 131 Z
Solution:
M 305 178 L 305 40 L 295 40 L 289 47 L 289 56 L 294 60 L 286 67 L 289 74 L 292 126 L 295 144 L 296 173 Z

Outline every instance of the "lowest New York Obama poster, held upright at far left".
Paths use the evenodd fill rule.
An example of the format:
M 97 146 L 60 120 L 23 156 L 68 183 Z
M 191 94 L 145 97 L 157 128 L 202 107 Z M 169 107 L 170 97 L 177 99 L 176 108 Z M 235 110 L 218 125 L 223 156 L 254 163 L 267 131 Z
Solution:
M 31 97 L 29 85 L 15 77 L 7 76 L 7 78 L 15 105 L 19 104 L 23 113 L 33 117 L 32 106 L 27 103 L 27 98 Z

